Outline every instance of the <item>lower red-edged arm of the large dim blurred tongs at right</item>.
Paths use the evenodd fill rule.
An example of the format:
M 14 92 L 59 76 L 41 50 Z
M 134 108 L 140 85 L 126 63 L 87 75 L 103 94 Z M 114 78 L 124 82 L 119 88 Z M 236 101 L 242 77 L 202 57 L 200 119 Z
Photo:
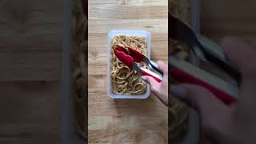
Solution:
M 238 87 L 201 70 L 181 58 L 170 56 L 170 78 L 177 82 L 190 83 L 210 90 L 217 98 L 230 104 L 238 98 Z

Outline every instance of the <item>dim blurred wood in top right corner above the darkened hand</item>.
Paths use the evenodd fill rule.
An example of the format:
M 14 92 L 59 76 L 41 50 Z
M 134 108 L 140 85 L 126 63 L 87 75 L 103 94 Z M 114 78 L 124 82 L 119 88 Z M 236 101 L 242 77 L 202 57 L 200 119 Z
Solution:
M 202 33 L 219 41 L 226 36 L 256 41 L 256 2 L 202 1 Z

